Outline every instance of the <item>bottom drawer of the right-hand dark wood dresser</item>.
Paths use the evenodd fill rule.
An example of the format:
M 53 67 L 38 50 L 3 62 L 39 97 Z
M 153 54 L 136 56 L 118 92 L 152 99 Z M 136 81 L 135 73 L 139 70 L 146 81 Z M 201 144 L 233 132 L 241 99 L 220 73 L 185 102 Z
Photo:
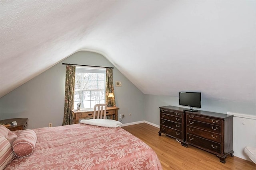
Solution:
M 220 143 L 212 142 L 194 135 L 187 134 L 188 143 L 198 145 L 213 152 L 221 153 Z

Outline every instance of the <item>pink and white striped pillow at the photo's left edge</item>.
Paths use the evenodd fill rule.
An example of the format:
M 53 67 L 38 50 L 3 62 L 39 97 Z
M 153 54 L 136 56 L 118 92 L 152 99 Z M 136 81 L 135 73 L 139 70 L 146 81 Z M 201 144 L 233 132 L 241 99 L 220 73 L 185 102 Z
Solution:
M 2 132 L 2 129 L 0 132 Z M 0 134 L 0 169 L 4 169 L 14 158 L 15 154 L 12 151 L 12 144 Z

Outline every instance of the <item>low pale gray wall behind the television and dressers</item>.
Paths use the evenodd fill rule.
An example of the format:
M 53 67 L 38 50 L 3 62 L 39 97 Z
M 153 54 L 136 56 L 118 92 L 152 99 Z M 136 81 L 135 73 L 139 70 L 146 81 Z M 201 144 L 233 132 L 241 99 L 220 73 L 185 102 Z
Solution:
M 178 92 L 177 92 L 178 95 Z M 179 98 L 171 96 L 145 95 L 145 119 L 156 125 L 160 125 L 159 106 L 179 106 Z M 212 111 L 217 113 L 227 112 L 240 113 L 246 115 L 256 115 L 255 103 L 226 102 L 220 100 L 209 100 L 202 98 L 202 108 L 195 108 L 204 111 Z

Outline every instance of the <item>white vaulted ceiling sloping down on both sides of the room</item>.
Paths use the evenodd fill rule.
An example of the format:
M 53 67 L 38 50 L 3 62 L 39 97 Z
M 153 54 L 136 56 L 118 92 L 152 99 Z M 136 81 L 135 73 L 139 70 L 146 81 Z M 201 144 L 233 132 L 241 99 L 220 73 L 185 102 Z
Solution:
M 255 0 L 0 0 L 0 97 L 81 50 L 144 94 L 256 102 Z

